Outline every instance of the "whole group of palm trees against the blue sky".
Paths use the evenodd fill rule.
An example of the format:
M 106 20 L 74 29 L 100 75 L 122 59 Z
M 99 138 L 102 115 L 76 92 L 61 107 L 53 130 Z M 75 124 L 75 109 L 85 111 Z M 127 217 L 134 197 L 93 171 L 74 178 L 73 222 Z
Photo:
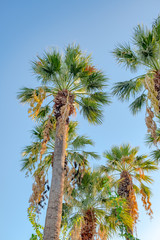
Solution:
M 158 169 L 160 158 L 160 18 L 151 30 L 138 25 L 132 40 L 133 46 L 120 44 L 113 54 L 131 71 L 142 66 L 146 72 L 116 83 L 112 95 L 123 101 L 134 97 L 133 114 L 146 106 L 147 142 L 156 147 L 151 159 L 138 155 L 138 147 L 114 146 L 103 154 L 106 165 L 91 171 L 90 160 L 100 156 L 87 150 L 93 141 L 78 135 L 78 122 L 70 117 L 79 111 L 92 124 L 103 122 L 103 107 L 110 104 L 107 78 L 77 45 L 68 45 L 64 54 L 55 49 L 45 52 L 33 61 L 40 85 L 22 88 L 18 94 L 21 103 L 30 105 L 29 116 L 36 121 L 34 140 L 24 148 L 22 159 L 22 170 L 33 177 L 28 208 L 36 231 L 32 240 L 105 240 L 117 232 L 126 239 L 137 239 L 133 235 L 138 195 L 152 215 L 148 184 L 153 179 L 148 174 Z M 35 219 L 46 204 L 42 233 Z

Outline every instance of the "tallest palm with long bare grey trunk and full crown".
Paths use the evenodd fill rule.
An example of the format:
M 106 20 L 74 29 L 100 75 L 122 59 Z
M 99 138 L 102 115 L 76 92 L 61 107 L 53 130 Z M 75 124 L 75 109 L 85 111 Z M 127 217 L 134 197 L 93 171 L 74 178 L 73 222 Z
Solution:
M 58 240 L 61 226 L 62 199 L 64 189 L 64 162 L 69 117 L 76 108 L 90 123 L 102 122 L 102 106 L 108 104 L 108 96 L 103 91 L 106 77 L 91 63 L 91 57 L 82 53 L 79 46 L 68 46 L 62 56 L 56 50 L 45 52 L 33 62 L 33 70 L 41 86 L 23 88 L 18 94 L 22 103 L 29 103 L 31 117 L 49 112 L 48 122 L 43 132 L 41 154 L 45 152 L 52 128 L 51 118 L 56 119 L 56 137 L 52 171 L 51 190 L 44 228 L 44 240 Z M 41 107 L 42 102 L 47 104 Z

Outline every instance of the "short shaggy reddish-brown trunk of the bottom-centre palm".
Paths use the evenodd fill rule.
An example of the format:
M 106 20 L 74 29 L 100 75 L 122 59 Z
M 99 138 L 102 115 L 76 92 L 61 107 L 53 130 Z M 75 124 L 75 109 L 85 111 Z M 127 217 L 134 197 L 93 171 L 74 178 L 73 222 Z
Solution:
M 92 210 L 87 210 L 84 215 L 84 222 L 81 228 L 82 240 L 93 240 L 96 230 L 96 216 Z

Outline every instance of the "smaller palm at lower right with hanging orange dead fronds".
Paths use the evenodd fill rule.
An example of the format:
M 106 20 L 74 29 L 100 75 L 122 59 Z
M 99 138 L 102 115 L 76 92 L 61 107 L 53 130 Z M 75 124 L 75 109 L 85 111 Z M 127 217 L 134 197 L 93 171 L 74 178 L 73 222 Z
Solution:
M 134 224 L 138 219 L 137 194 L 141 194 L 145 209 L 149 215 L 152 214 L 151 191 L 145 184 L 152 183 L 153 180 L 146 173 L 158 169 L 154 161 L 147 159 L 146 155 L 137 153 L 138 148 L 131 148 L 129 144 L 112 147 L 110 151 L 104 152 L 107 163 L 101 167 L 101 171 L 107 176 L 109 174 L 114 176 L 117 193 L 128 202 L 129 214 Z M 133 234 L 134 224 L 128 228 L 130 234 Z

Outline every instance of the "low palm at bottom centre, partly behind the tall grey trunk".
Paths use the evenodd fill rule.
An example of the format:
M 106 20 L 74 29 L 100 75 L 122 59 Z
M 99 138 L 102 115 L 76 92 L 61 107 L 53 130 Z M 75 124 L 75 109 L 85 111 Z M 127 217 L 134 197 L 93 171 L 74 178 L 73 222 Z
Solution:
M 111 193 L 110 180 L 97 171 L 88 170 L 67 200 L 63 204 L 62 239 L 106 240 L 122 222 L 132 224 L 125 202 Z M 119 213 L 121 221 L 118 206 L 125 206 Z

